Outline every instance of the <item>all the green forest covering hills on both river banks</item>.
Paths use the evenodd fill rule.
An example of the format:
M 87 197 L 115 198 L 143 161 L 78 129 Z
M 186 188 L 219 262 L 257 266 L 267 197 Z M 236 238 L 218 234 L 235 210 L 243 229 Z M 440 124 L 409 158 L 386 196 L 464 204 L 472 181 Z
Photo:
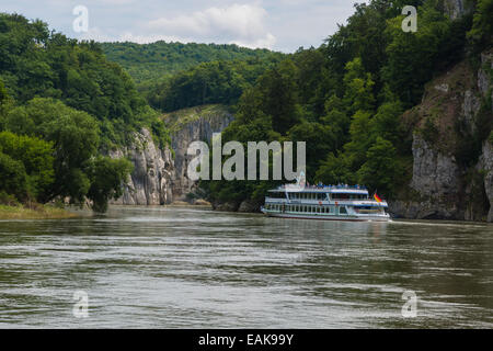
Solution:
M 307 141 L 310 183 L 359 183 L 402 196 L 412 176 L 412 134 L 433 122 L 401 118 L 425 84 L 492 47 L 493 0 L 471 0 L 458 20 L 444 0 L 371 0 L 320 47 L 285 55 L 236 45 L 78 42 L 41 21 L 0 14 L 0 202 L 89 199 L 105 211 L 131 171 L 105 152 L 148 127 L 162 147 L 163 112 L 221 103 L 234 121 L 222 141 Z M 404 5 L 419 31 L 404 32 Z M 491 101 L 483 101 L 484 105 Z M 480 118 L 457 158 L 478 158 L 491 135 Z M 261 202 L 270 181 L 202 181 L 211 202 Z

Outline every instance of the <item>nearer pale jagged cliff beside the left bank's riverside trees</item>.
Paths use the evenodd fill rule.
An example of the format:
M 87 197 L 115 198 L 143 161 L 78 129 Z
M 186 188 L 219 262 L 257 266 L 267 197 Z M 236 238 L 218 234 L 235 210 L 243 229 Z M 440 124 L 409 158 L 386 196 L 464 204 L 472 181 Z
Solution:
M 162 205 L 173 201 L 171 180 L 174 173 L 171 150 L 156 146 L 148 129 L 135 133 L 130 147 L 110 151 L 110 157 L 128 157 L 134 171 L 124 184 L 124 195 L 112 204 Z

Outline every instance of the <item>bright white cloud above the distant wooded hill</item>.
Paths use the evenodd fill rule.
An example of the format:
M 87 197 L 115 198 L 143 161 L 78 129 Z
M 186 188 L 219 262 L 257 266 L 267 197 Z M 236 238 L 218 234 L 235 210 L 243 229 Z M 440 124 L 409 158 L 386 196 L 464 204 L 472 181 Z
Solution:
M 265 29 L 267 12 L 257 4 L 209 8 L 174 18 L 150 21 L 146 27 L 164 37 L 181 41 L 234 43 L 248 47 L 272 48 L 276 38 Z

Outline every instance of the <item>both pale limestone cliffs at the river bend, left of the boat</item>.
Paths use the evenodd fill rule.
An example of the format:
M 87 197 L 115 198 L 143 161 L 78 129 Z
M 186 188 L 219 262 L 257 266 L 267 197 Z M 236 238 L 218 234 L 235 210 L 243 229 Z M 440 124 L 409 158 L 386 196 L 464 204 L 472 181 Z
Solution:
M 196 184 L 186 177 L 192 159 L 186 156 L 188 145 L 196 140 L 210 141 L 213 133 L 221 132 L 233 120 L 233 115 L 219 105 L 186 109 L 168 117 L 173 151 L 168 146 L 160 149 L 150 132 L 142 128 L 134 134 L 129 147 L 108 152 L 112 158 L 127 157 L 134 163 L 123 196 L 111 204 L 163 205 L 186 200 Z

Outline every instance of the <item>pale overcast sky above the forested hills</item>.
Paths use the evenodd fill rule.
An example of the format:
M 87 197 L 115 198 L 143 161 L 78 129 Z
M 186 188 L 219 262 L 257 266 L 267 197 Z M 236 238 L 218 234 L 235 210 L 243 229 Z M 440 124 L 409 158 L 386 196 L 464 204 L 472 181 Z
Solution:
M 318 47 L 353 13 L 354 0 L 0 0 L 1 12 L 48 22 L 70 37 L 236 43 L 291 53 Z M 358 2 L 364 2 L 363 0 Z M 73 30 L 77 5 L 89 12 L 89 31 Z

